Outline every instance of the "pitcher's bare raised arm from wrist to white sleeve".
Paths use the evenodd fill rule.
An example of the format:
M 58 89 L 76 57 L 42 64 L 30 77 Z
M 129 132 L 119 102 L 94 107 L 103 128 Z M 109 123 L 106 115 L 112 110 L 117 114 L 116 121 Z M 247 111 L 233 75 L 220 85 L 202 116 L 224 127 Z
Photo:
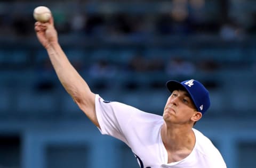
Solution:
M 87 117 L 100 128 L 95 112 L 95 94 L 91 92 L 87 83 L 71 65 L 58 43 L 47 46 L 46 50 L 62 86 Z

